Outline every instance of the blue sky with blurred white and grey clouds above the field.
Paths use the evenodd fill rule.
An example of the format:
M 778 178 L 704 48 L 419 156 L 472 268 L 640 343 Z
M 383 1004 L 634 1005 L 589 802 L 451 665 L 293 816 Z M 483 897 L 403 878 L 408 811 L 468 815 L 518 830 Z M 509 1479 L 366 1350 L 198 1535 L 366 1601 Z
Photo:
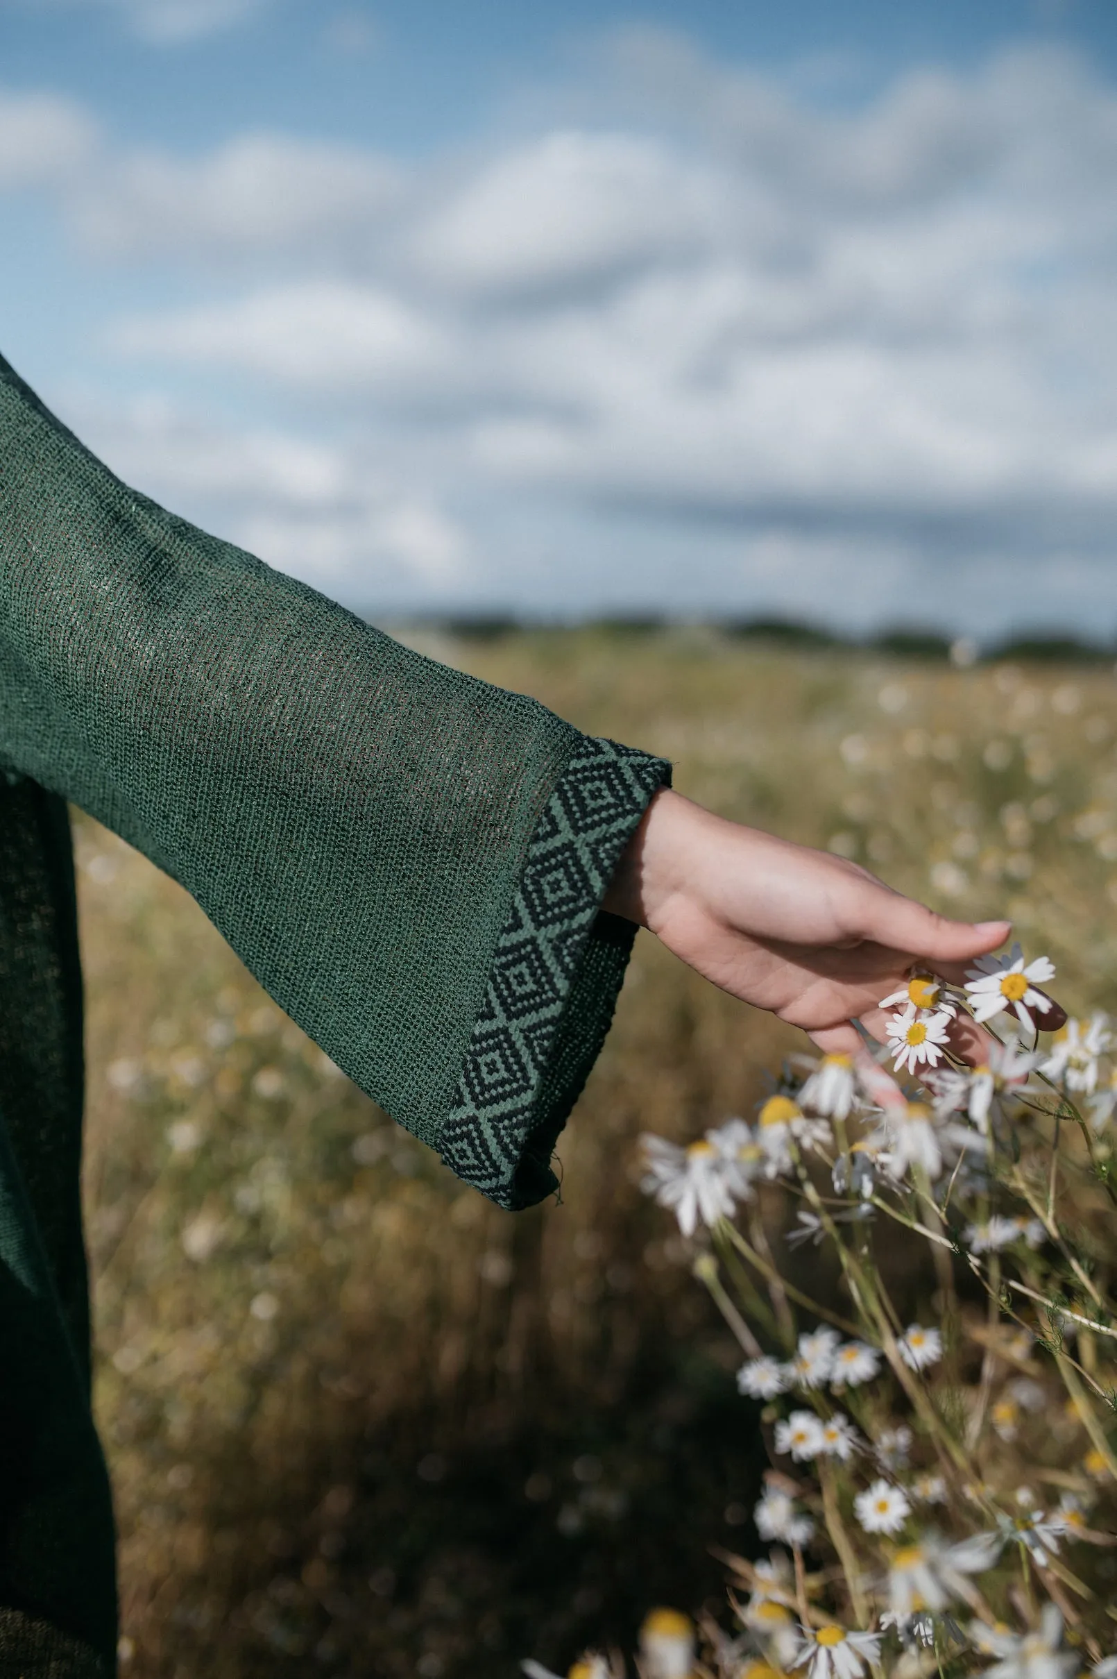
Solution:
M 1112 0 L 0 0 L 0 349 L 349 604 L 1117 631 Z

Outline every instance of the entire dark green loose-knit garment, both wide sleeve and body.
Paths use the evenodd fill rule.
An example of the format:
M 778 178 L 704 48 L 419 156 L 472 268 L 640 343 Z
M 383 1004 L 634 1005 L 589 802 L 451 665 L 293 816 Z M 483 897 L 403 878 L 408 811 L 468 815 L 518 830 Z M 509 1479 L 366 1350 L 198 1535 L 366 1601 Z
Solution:
M 600 900 L 668 779 L 129 490 L 0 358 L 0 1679 L 116 1649 L 65 803 L 515 1209 L 555 1187 L 634 934 Z

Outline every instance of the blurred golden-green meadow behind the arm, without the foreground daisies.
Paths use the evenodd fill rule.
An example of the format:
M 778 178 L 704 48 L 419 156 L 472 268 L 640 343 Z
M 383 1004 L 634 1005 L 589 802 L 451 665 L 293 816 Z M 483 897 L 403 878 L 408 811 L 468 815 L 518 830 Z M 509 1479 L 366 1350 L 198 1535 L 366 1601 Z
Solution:
M 1117 1006 L 1109 665 L 713 630 L 418 640 L 671 757 L 728 816 L 1011 915 L 1068 1009 Z M 84 818 L 77 860 L 124 1674 L 512 1679 L 631 1645 L 652 1603 L 725 1619 L 763 1456 L 636 1140 L 751 1117 L 797 1034 L 641 935 L 560 1202 L 512 1217 L 357 1093 L 178 887 Z

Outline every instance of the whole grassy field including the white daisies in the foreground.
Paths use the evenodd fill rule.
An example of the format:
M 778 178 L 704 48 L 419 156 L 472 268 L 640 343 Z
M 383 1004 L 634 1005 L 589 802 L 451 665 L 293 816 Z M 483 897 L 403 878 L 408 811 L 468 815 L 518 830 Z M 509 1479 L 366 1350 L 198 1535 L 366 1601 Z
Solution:
M 79 818 L 124 1674 L 1107 1674 L 1112 667 L 698 630 L 424 650 L 1010 915 L 1026 970 L 916 975 L 884 1063 L 818 1068 L 641 935 L 562 1204 L 512 1217 Z M 1077 1024 L 1033 1054 L 1048 991 Z M 1006 1048 L 959 1075 L 943 1016 L 993 1007 Z

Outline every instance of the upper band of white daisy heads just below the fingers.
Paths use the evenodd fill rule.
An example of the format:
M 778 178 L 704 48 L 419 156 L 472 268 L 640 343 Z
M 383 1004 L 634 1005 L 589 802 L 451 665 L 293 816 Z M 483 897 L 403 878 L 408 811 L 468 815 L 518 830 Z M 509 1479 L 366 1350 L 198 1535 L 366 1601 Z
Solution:
M 1095 1133 L 1117 1110 L 1117 1064 L 1105 1059 L 1117 1038 L 1105 1014 L 1068 1021 L 1043 1049 L 1021 1043 L 1020 1031 L 1035 1034 L 1052 1012 L 1036 987 L 1053 974 L 1047 957 L 1025 964 L 1016 945 L 1006 957 L 983 957 L 964 987 L 914 974 L 882 999 L 881 1007 L 904 1004 L 887 1019 L 887 1051 L 827 1054 L 817 1063 L 793 1058 L 753 1123 L 726 1120 L 688 1147 L 642 1137 L 644 1190 L 674 1212 L 688 1237 L 731 1219 L 763 1182 L 793 1184 L 808 1155 L 825 1160 L 835 1195 L 852 1202 L 834 1212 L 835 1222 L 870 1219 L 881 1192 L 921 1182 L 949 1182 L 954 1206 L 981 1200 L 990 1152 L 1015 1103 L 1055 1086 L 1082 1101 Z M 1018 1028 L 993 1038 L 979 1066 L 949 1056 L 949 1029 L 963 1009 L 978 1023 L 1010 1016 Z M 881 1056 L 894 1059 L 894 1073 L 917 1076 L 921 1088 L 906 1093 Z M 850 1125 L 860 1127 L 852 1140 Z M 805 1207 L 788 1239 L 795 1246 L 822 1236 L 823 1221 Z M 974 1254 L 1013 1242 L 1038 1247 L 1043 1226 L 1035 1217 L 985 1214 L 966 1224 L 963 1239 Z

